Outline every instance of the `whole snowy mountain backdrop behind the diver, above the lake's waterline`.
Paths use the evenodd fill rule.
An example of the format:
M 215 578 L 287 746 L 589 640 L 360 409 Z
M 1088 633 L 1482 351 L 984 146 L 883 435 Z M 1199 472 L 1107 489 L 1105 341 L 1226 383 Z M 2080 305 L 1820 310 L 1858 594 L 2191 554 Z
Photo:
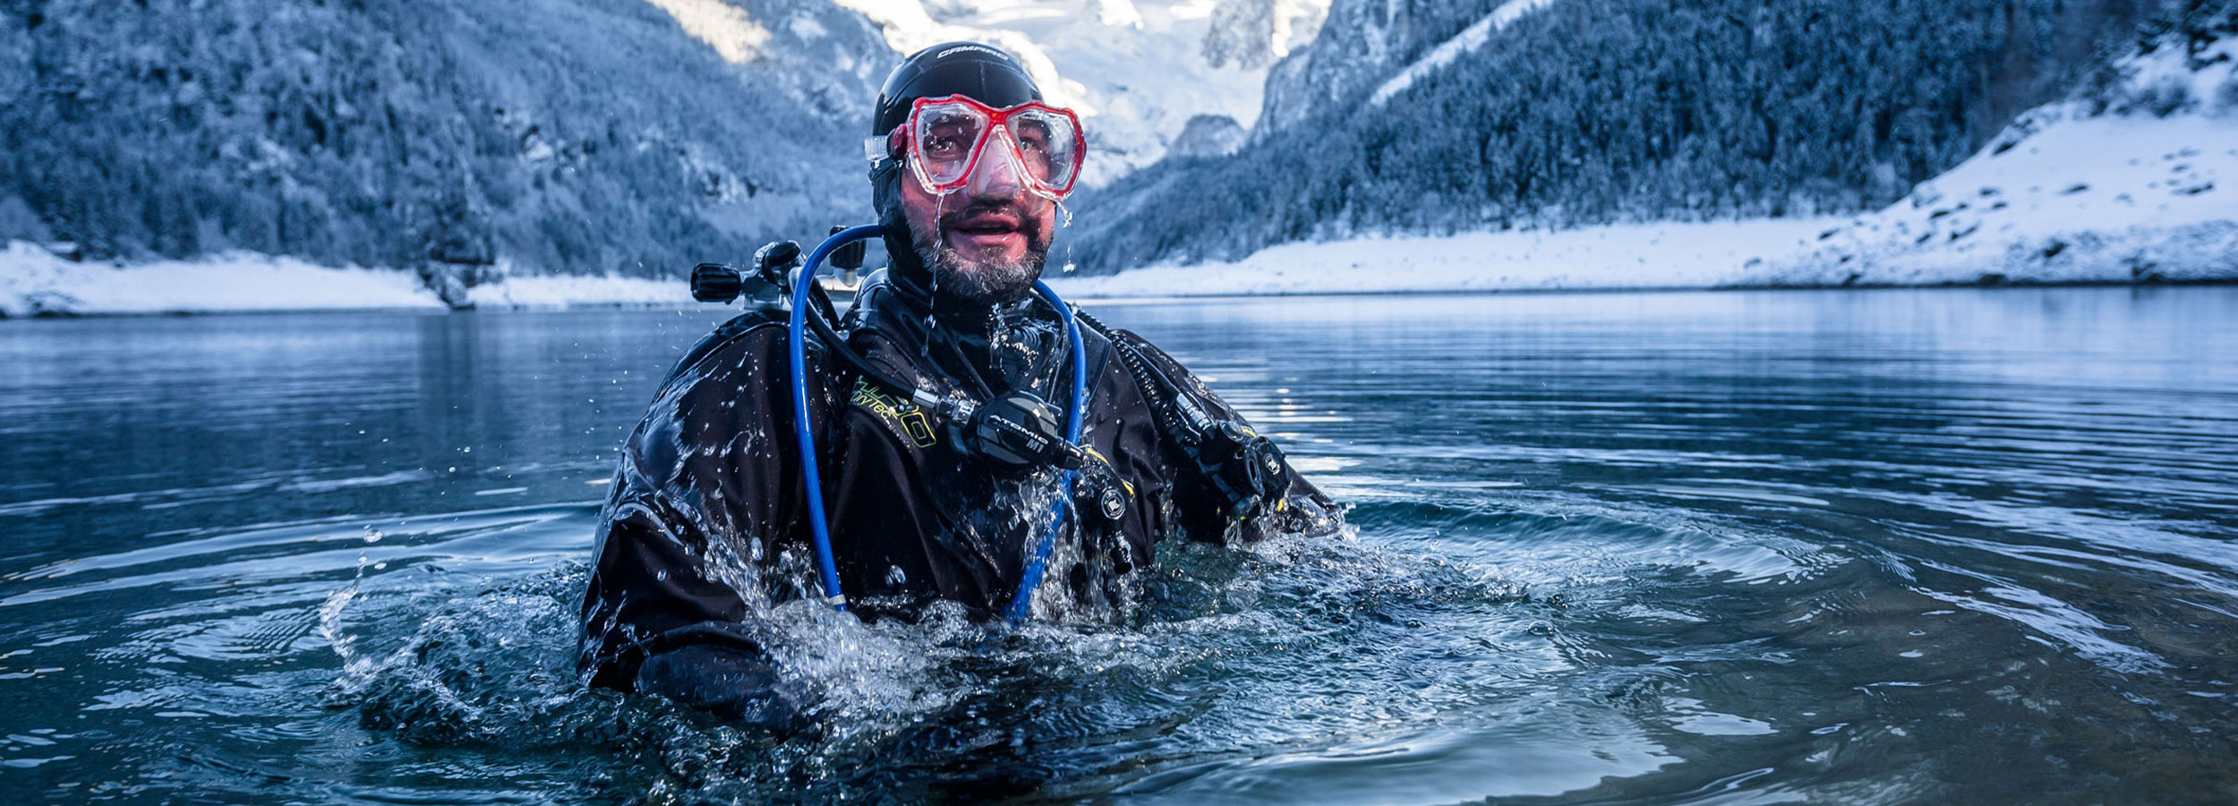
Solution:
M 1018 51 L 1088 116 L 1106 186 L 1063 235 L 1083 273 L 2184 280 L 2238 255 L 2238 152 L 2218 146 L 2238 85 L 2213 78 L 2238 58 L 2231 2 L 1318 2 L 0 4 L 0 311 L 295 307 L 233 296 L 309 278 L 387 289 L 367 300 L 662 298 L 466 284 L 674 278 L 862 219 L 875 85 L 949 38 Z M 2140 25 L 2157 45 L 2108 67 Z

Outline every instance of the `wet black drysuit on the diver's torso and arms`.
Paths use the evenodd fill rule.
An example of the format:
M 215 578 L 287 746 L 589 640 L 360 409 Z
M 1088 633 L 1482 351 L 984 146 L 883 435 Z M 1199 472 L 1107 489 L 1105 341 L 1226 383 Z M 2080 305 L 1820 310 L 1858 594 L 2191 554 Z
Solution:
M 1029 390 L 1059 412 L 1070 405 L 1065 334 L 1041 298 L 935 316 L 929 293 L 880 275 L 841 331 L 902 383 L 978 401 Z M 1043 589 L 1115 607 L 1117 580 L 1141 573 L 1162 537 L 1334 528 L 1336 508 L 1287 461 L 1280 499 L 1233 517 L 1233 495 L 1182 450 L 1162 410 L 1188 396 L 1213 421 L 1242 425 L 1235 410 L 1135 334 L 1083 320 L 1081 336 L 1090 378 L 1081 441 L 1108 470 L 1081 475 Z M 819 596 L 786 340 L 786 313 L 774 307 L 718 327 L 676 365 L 629 437 L 582 604 L 580 660 L 593 685 L 761 685 L 768 672 L 745 660 L 765 640 L 750 602 Z M 971 454 L 949 423 L 815 338 L 808 378 L 830 544 L 850 607 L 877 613 L 944 598 L 1000 611 L 1061 495 L 1056 470 Z M 772 566 L 781 573 L 761 573 Z

